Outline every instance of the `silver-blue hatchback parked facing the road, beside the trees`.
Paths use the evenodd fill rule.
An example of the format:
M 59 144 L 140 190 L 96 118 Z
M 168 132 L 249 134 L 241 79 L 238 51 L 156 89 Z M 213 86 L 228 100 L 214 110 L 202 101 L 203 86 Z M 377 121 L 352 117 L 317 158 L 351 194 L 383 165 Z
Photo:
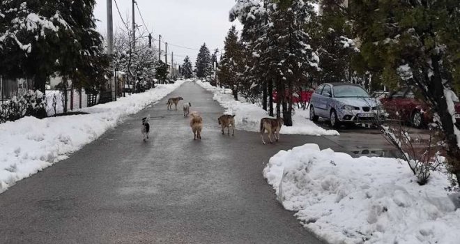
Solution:
M 332 127 L 344 123 L 372 124 L 385 120 L 385 110 L 376 98 L 357 84 L 325 83 L 318 86 L 310 100 L 310 119 L 329 119 Z

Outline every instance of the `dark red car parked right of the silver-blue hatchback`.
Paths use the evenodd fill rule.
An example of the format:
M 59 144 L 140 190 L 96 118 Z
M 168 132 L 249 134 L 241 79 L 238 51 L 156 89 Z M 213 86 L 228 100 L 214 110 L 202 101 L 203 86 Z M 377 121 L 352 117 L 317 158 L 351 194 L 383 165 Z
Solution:
M 380 100 L 390 119 L 401 119 L 410 122 L 415 128 L 421 128 L 427 123 L 433 122 L 433 113 L 426 102 L 415 97 L 412 87 L 390 93 L 387 98 Z M 460 124 L 460 104 L 455 105 L 455 118 Z

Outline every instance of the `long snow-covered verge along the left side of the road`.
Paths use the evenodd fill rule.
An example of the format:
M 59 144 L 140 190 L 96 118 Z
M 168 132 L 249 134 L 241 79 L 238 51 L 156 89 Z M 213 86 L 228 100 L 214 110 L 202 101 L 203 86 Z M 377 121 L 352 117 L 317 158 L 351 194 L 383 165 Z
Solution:
M 41 120 L 25 117 L 0 124 L 0 192 L 16 181 L 68 158 L 70 153 L 93 142 L 109 128 L 114 128 L 123 117 L 164 98 L 183 82 L 158 84 L 155 89 L 145 93 L 79 109 L 90 114 Z

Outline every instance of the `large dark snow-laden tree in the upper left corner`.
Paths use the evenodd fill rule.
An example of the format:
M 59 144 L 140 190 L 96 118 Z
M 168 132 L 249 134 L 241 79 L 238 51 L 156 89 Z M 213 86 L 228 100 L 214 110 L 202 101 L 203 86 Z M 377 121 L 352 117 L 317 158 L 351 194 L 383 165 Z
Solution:
M 2 1 L 3 75 L 32 77 L 35 89 L 43 92 L 48 77 L 56 73 L 72 79 L 77 87 L 93 86 L 88 80 L 104 77 L 108 67 L 91 68 L 93 63 L 108 64 L 102 37 L 95 31 L 94 5 L 94 0 Z

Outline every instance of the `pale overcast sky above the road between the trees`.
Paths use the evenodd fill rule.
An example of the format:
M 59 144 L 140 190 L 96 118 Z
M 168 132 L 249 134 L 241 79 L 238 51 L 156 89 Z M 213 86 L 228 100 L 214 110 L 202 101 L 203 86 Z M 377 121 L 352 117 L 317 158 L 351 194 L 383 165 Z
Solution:
M 98 30 L 107 33 L 107 0 L 97 0 L 94 15 L 100 20 Z M 121 16 L 126 20 L 131 16 L 131 0 L 116 0 Z M 153 36 L 158 39 L 162 35 L 164 41 L 199 49 L 203 43 L 213 52 L 213 49 L 224 47 L 224 38 L 231 25 L 240 29 L 240 23 L 229 22 L 229 10 L 235 0 L 137 0 L 141 15 L 144 17 L 147 28 L 153 31 Z M 123 25 L 112 0 L 114 15 L 114 32 Z M 131 18 L 131 17 L 130 17 Z M 136 23 L 142 23 L 136 8 Z M 130 19 L 131 20 L 131 19 Z M 143 27 L 140 27 L 143 28 Z M 155 43 L 158 45 L 158 42 Z M 164 45 L 162 44 L 162 50 Z M 168 52 L 174 52 L 174 60 L 182 63 L 185 55 L 189 55 L 192 63 L 195 62 L 198 51 L 183 49 L 169 45 Z M 170 61 L 171 56 L 168 56 Z

